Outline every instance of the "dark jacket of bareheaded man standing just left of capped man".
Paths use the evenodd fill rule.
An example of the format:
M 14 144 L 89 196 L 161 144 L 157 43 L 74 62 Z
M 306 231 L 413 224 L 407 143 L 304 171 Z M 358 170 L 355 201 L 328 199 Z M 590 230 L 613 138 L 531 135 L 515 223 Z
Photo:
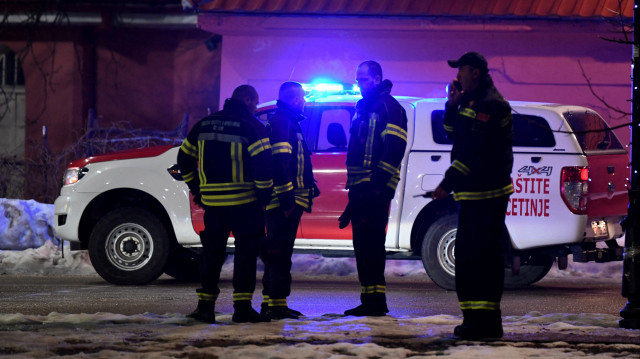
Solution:
M 384 80 L 356 104 L 347 150 L 347 188 L 370 183 L 393 198 L 407 147 L 407 113 Z

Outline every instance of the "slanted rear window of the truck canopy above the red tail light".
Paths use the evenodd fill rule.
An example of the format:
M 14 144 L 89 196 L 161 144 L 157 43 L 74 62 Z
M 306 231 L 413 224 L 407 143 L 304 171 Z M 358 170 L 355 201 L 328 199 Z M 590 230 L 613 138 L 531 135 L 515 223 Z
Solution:
M 623 149 L 606 122 L 595 112 L 565 112 L 562 114 L 574 132 L 583 151 Z

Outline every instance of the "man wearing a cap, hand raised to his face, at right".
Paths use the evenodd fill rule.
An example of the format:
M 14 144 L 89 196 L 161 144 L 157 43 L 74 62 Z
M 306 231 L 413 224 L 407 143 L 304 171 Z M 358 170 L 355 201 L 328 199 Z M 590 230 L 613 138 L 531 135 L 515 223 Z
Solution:
M 432 198 L 442 199 L 453 191 L 458 202 L 456 292 L 464 320 L 454 335 L 500 338 L 503 241 L 508 238 L 504 221 L 513 193 L 513 117 L 481 54 L 468 52 L 448 63 L 458 69 L 444 117 L 453 141 L 451 166 Z

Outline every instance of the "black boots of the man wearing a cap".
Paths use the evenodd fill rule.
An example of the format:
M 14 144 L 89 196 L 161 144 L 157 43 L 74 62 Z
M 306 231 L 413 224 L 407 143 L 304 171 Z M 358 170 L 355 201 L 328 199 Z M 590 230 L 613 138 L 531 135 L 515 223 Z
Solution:
M 482 340 L 502 338 L 502 317 L 499 310 L 463 310 L 464 320 L 453 329 L 461 339 Z

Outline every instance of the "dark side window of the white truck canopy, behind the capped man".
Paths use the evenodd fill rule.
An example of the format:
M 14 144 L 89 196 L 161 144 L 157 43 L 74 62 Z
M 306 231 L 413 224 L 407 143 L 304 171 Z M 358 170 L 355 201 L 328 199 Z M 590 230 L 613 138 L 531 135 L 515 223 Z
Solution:
M 431 131 L 436 143 L 447 145 L 453 142 L 447 137 L 442 127 L 444 110 L 431 113 Z M 532 115 L 513 114 L 513 145 L 520 147 L 554 147 L 556 139 L 549 123 L 540 117 Z

